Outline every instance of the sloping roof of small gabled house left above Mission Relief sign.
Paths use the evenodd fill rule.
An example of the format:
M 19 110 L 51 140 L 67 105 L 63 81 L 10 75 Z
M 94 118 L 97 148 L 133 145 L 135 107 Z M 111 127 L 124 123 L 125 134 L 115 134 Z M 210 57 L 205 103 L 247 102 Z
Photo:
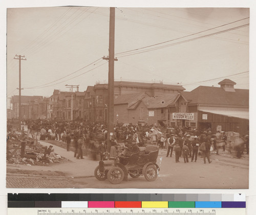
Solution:
M 168 93 L 159 97 L 145 97 L 142 102 L 150 108 L 165 108 L 169 105 L 173 105 L 180 97 L 179 93 Z

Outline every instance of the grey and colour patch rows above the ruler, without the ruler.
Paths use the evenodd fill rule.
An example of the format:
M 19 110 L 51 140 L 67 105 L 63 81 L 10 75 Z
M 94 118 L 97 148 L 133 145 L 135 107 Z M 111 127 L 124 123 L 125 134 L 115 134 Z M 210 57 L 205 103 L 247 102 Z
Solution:
M 8 194 L 8 208 L 33 207 L 245 208 L 246 203 L 242 194 Z

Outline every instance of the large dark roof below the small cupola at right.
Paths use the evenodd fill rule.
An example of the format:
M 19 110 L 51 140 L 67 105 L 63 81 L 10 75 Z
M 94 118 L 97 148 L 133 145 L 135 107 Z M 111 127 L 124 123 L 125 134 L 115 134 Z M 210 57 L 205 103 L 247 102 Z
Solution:
M 191 104 L 209 105 L 239 105 L 249 106 L 249 90 L 235 89 L 234 92 L 225 91 L 222 87 L 199 86 L 190 92 L 182 92 Z

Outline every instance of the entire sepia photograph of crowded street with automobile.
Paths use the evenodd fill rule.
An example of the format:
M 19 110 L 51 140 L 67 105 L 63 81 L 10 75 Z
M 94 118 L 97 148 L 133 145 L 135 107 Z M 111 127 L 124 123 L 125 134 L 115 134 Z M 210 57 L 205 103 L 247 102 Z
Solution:
M 249 25 L 249 8 L 7 8 L 6 188 L 248 189 Z

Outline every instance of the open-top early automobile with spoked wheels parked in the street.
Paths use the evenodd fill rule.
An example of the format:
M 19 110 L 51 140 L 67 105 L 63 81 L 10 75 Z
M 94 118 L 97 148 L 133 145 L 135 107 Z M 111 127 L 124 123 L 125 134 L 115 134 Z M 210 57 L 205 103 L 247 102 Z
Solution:
M 156 163 L 158 152 L 158 146 L 146 146 L 129 158 L 110 157 L 109 160 L 101 160 L 94 175 L 98 180 L 108 178 L 112 184 L 127 181 L 128 175 L 132 178 L 144 175 L 147 181 L 154 181 L 160 170 Z

